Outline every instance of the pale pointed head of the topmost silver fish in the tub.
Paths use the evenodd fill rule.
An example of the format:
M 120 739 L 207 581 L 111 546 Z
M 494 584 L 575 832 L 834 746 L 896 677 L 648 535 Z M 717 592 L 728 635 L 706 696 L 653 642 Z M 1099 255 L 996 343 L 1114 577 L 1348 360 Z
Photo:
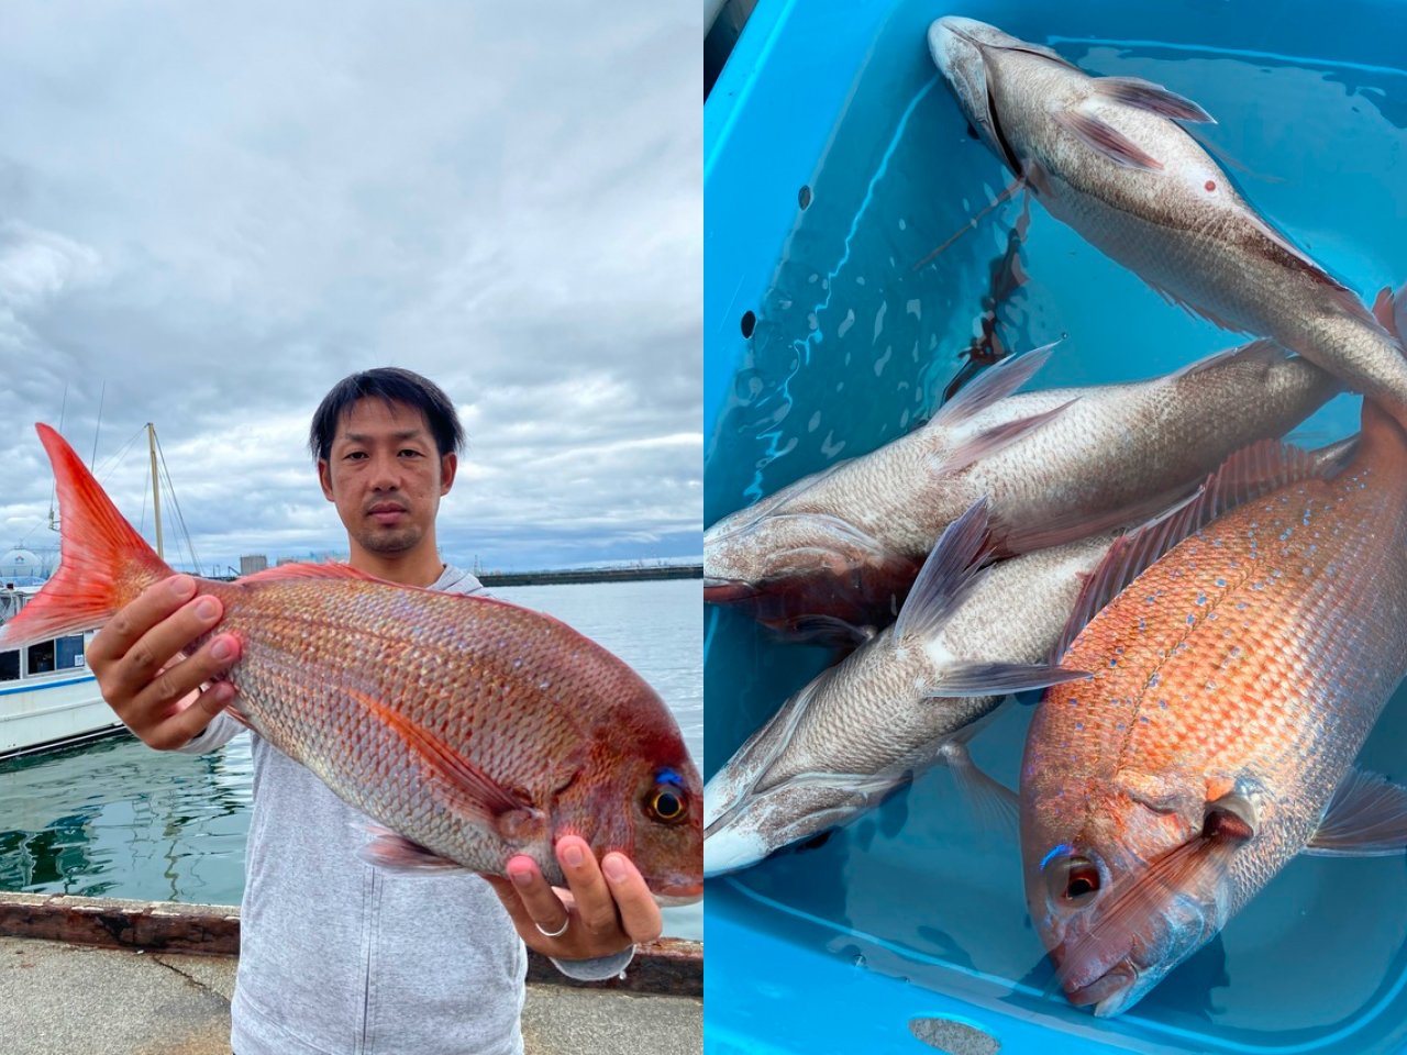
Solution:
M 1031 59 L 1062 66 L 1071 63 L 1050 48 L 1019 39 L 975 18 L 955 15 L 938 18 L 929 27 L 929 53 L 978 138 L 1019 173 L 1020 163 L 1002 131 L 1003 120 L 1009 122 L 1013 115 L 1002 113 L 996 68 Z

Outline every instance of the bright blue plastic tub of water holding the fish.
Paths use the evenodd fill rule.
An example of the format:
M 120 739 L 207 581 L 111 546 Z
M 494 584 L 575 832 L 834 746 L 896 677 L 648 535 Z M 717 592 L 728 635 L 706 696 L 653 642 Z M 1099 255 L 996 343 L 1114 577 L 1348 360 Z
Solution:
M 1006 184 L 927 56 L 943 14 L 1204 106 L 1247 197 L 1361 294 L 1407 280 L 1407 6 L 761 3 L 705 107 L 705 518 L 902 435 L 971 343 L 1006 205 L 915 267 Z M 805 190 L 803 190 L 805 188 Z M 802 203 L 806 201 L 806 208 Z M 1237 343 L 1031 207 L 1016 349 L 1068 335 L 1041 384 L 1147 377 Z M 744 331 L 750 336 L 744 336 Z M 1356 428 L 1341 397 L 1301 429 Z M 705 769 L 825 664 L 711 609 Z M 1029 708 L 974 743 L 1014 786 Z M 1407 775 L 1407 693 L 1362 764 Z M 820 847 L 711 881 L 706 1048 L 909 1052 L 915 1018 L 1003 1052 L 1392 1052 L 1407 1042 L 1407 861 L 1301 858 L 1124 1016 L 1047 993 L 1014 841 L 923 774 Z M 969 1034 L 969 1051 L 982 1051 Z

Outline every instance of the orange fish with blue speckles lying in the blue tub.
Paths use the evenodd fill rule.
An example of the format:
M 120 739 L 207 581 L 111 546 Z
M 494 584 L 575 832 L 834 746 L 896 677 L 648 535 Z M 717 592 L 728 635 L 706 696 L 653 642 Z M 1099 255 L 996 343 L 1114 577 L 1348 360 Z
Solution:
M 1407 433 L 1365 404 L 1337 473 L 1261 447 L 1204 502 L 1268 477 L 1097 610 L 1062 658 L 1093 681 L 1050 689 L 1031 724 L 1027 904 L 1069 1000 L 1100 1016 L 1296 854 L 1407 845 L 1407 791 L 1352 767 L 1407 672 Z M 1093 592 L 1138 558 L 1112 554 Z

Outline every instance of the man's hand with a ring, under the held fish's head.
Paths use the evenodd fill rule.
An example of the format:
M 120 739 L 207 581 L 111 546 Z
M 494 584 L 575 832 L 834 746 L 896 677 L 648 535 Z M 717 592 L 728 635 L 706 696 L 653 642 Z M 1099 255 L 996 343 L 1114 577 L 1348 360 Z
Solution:
M 580 836 L 559 838 L 556 852 L 567 890 L 550 886 L 530 857 L 508 859 L 509 879 L 485 876 L 529 948 L 554 959 L 595 959 L 660 937 L 660 907 L 625 854 L 606 854 L 598 867 Z

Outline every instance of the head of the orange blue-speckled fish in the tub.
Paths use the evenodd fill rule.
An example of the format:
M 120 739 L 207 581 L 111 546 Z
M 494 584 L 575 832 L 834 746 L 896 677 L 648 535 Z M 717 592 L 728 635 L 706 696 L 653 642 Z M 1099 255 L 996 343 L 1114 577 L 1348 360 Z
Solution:
M 1079 831 L 1023 831 L 1026 899 L 1067 999 L 1110 1017 L 1225 923 L 1235 843 L 1206 836 L 1200 795 L 1092 788 L 1083 803 Z

